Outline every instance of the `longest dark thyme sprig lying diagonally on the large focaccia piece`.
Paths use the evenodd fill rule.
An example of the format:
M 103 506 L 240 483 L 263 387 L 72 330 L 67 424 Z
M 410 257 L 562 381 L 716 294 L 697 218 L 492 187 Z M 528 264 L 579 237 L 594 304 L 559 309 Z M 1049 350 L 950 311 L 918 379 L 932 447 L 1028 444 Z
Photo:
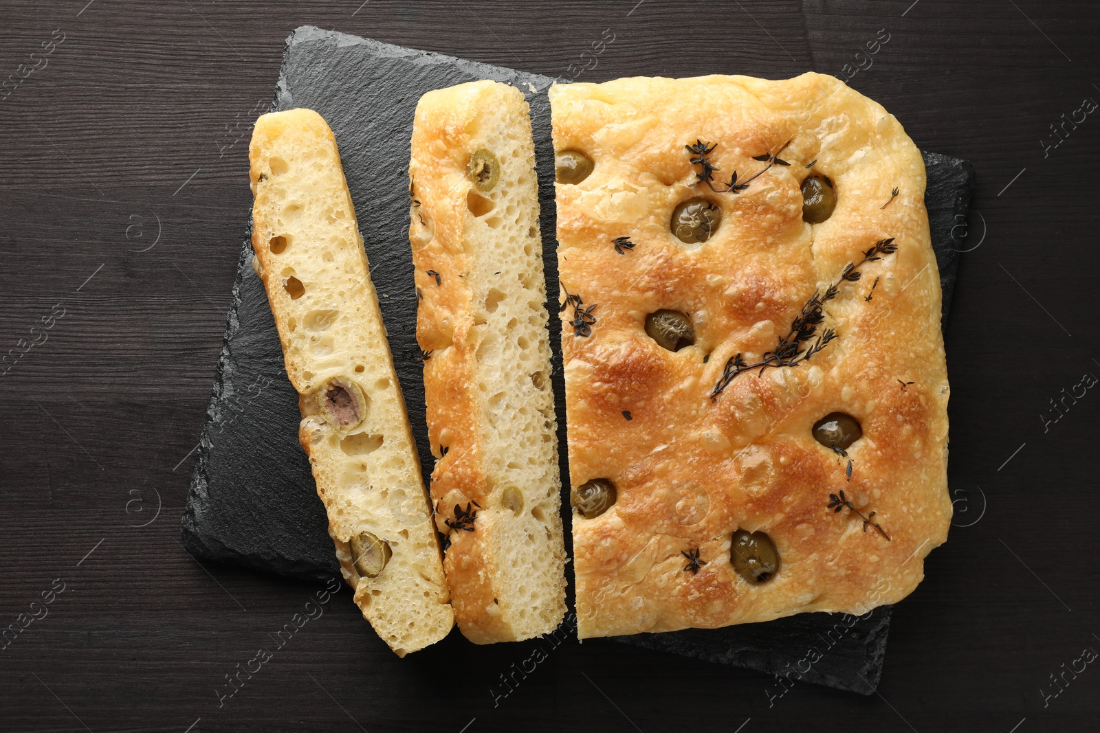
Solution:
M 839 335 L 834 329 L 826 329 L 821 335 L 817 334 L 817 326 L 825 321 L 825 303 L 836 298 L 842 282 L 855 282 L 859 279 L 861 275 L 859 271 L 860 267 L 867 263 L 882 259 L 883 255 L 889 255 L 897 251 L 898 245 L 894 244 L 894 237 L 879 240 L 864 253 L 864 258 L 858 263 L 848 263 L 845 265 L 839 279 L 829 285 L 824 295 L 814 290 L 814 295 L 802 307 L 802 312 L 791 321 L 790 332 L 779 340 L 776 351 L 765 352 L 760 360 L 755 364 L 745 362 L 740 353 L 730 357 L 726 362 L 726 366 L 723 368 L 722 376 L 715 384 L 714 389 L 711 390 L 711 399 L 716 399 L 722 393 L 722 390 L 729 386 L 729 382 L 745 371 L 759 367 L 762 375 L 767 367 L 798 366 L 822 352 L 829 342 Z M 804 346 L 811 338 L 814 340 L 813 343 Z

